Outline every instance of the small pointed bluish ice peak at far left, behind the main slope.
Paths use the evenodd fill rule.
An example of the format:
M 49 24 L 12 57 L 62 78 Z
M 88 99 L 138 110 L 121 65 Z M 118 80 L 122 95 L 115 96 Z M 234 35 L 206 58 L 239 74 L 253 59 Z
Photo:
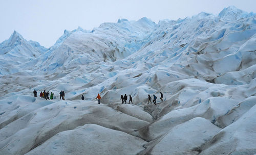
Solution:
M 27 41 L 16 31 L 8 40 L 0 44 L 0 75 L 7 75 L 23 70 L 26 64 L 40 55 L 44 54 L 47 48 L 38 42 Z

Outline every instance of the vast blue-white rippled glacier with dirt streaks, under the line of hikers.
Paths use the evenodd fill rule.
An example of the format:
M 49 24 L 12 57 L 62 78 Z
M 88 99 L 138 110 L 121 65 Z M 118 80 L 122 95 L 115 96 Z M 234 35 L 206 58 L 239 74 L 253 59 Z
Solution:
M 11 38 L 0 44 L 1 65 L 12 66 L 0 75 L 1 153 L 256 153 L 254 13 L 119 19 L 65 30 L 48 50 Z M 17 49 L 23 61 L 9 61 Z M 56 98 L 32 97 L 34 89 Z M 120 104 L 121 94 L 133 105 Z

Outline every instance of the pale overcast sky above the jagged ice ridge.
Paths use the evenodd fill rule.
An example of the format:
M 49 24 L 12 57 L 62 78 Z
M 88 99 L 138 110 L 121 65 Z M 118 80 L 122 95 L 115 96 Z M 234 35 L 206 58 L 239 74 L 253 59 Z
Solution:
M 255 0 L 0 0 L 0 42 L 16 30 L 27 40 L 50 47 L 65 29 L 92 30 L 119 18 L 147 17 L 158 23 L 200 12 L 218 14 L 231 5 L 256 13 Z

